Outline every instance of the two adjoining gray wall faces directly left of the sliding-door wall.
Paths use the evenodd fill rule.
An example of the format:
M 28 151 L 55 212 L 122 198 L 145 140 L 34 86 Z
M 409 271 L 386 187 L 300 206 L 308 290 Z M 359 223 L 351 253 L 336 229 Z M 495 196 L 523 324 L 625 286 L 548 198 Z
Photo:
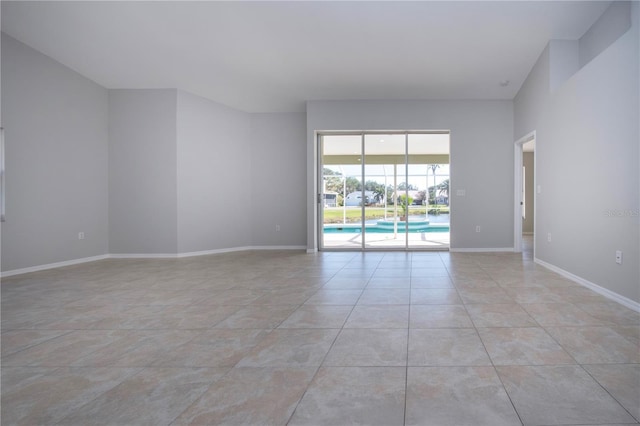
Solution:
M 179 91 L 178 251 L 304 246 L 305 126 Z

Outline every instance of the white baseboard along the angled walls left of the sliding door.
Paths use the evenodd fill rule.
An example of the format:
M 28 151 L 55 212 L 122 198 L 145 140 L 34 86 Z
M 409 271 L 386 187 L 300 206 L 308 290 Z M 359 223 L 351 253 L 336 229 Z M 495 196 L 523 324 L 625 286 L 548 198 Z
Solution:
M 84 257 L 81 259 L 66 260 L 64 262 L 48 263 L 46 265 L 31 266 L 28 268 L 14 269 L 0 273 L 0 277 L 27 274 L 29 272 L 44 271 L 47 269 L 61 268 L 63 266 L 78 265 L 80 263 L 95 262 L 104 259 L 179 259 L 183 257 L 206 256 L 210 254 L 231 253 L 249 250 L 305 250 L 306 246 L 246 246 L 232 247 L 216 250 L 194 251 L 187 253 L 112 253 L 100 256 Z

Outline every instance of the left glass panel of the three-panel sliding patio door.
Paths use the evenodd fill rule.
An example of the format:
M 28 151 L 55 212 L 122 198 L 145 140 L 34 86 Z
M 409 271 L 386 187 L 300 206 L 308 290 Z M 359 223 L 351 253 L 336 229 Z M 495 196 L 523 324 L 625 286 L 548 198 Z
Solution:
M 362 136 L 322 137 L 322 247 L 362 248 Z

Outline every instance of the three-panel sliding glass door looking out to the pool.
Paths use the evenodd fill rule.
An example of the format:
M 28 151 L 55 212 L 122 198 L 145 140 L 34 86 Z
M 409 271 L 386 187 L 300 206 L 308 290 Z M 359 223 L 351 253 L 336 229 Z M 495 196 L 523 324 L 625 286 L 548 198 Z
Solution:
M 449 247 L 449 132 L 320 133 L 321 250 Z

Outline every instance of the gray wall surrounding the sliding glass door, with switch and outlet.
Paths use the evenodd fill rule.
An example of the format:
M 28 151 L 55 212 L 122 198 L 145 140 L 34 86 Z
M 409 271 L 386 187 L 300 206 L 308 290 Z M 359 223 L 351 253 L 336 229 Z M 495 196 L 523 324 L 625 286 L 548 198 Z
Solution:
M 511 101 L 308 102 L 307 249 L 317 248 L 314 132 L 323 130 L 450 130 L 451 248 L 513 248 L 512 123 Z

